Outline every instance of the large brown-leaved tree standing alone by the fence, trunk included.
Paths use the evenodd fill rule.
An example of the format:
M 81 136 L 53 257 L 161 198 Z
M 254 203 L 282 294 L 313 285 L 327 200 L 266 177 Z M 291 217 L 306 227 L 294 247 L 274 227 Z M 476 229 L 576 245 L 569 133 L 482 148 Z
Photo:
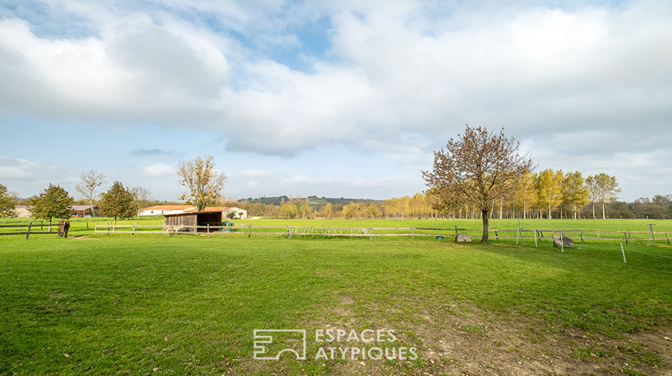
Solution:
M 506 137 L 504 129 L 494 133 L 467 125 L 463 135 L 434 152 L 434 168 L 422 172 L 427 186 L 438 187 L 453 206 L 466 202 L 480 210 L 481 243 L 487 243 L 493 201 L 506 193 L 508 181 L 532 168 L 532 159 L 521 156 L 519 148 L 520 142 Z

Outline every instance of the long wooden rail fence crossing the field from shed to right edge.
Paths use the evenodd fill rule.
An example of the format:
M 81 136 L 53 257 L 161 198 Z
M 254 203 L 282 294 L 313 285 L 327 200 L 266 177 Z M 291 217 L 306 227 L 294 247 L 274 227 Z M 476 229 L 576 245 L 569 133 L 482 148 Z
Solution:
M 252 224 L 239 226 L 164 226 L 164 225 L 113 225 L 96 224 L 94 234 L 193 234 L 193 235 L 286 235 L 292 236 L 348 236 L 348 237 L 388 237 L 410 236 L 411 239 L 418 237 L 452 238 L 464 233 L 480 239 L 483 229 L 481 228 L 437 228 L 437 227 L 334 227 L 334 226 L 252 226 Z M 503 230 L 492 228 L 489 230 L 490 239 L 516 239 L 516 242 L 553 239 L 561 235 L 570 237 L 574 242 L 588 240 L 614 240 L 625 244 L 639 241 L 656 244 L 663 241 L 670 244 L 668 232 L 653 231 L 600 231 L 600 230 Z

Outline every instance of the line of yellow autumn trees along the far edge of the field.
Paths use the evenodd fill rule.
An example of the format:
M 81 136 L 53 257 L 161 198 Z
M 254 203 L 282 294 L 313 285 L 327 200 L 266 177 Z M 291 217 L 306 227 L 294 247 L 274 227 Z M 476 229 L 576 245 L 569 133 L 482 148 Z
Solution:
M 492 202 L 491 218 L 650 218 L 672 217 L 672 194 L 617 201 L 616 177 L 601 173 L 546 169 L 521 175 Z M 352 200 L 316 196 L 263 197 L 223 204 L 247 210 L 248 217 L 265 218 L 480 218 L 468 203 L 451 207 L 428 192 L 390 200 Z

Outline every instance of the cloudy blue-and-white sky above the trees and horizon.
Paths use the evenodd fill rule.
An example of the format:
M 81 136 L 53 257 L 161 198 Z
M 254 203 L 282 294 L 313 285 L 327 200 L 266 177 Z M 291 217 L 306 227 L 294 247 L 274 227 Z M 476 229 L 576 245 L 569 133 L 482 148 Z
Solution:
M 0 0 L 0 184 L 390 199 L 466 124 L 672 193 L 672 1 Z

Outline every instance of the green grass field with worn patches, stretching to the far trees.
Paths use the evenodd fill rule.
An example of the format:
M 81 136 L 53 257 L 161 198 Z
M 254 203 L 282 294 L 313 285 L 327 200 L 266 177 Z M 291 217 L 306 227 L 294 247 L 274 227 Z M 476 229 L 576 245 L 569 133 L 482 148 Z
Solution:
M 72 223 L 67 239 L 0 236 L 0 374 L 672 372 L 672 248 L 664 242 L 625 245 L 625 263 L 614 241 L 560 252 L 513 240 L 93 236 L 86 222 Z M 633 220 L 521 226 L 646 231 L 647 223 L 672 230 Z M 254 360 L 254 329 L 306 329 L 307 359 Z M 323 329 L 393 330 L 396 340 L 316 342 Z M 373 346 L 415 347 L 418 356 L 353 356 L 351 348 Z M 317 356 L 328 347 L 350 353 Z

